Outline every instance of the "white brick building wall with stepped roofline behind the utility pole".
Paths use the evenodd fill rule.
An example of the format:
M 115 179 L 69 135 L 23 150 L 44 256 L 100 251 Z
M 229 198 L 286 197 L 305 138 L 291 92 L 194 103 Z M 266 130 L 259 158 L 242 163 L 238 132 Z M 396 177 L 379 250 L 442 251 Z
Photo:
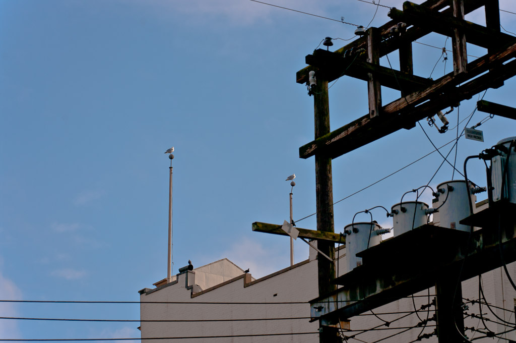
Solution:
M 262 335 L 279 333 L 305 333 L 307 335 L 287 336 L 254 336 L 254 337 L 228 337 L 209 339 L 166 339 L 165 342 L 199 341 L 199 342 L 318 342 L 318 322 L 310 323 L 309 319 L 296 320 L 262 320 L 262 321 L 236 321 L 241 319 L 273 319 L 273 318 L 294 318 L 309 317 L 310 306 L 305 304 L 278 304 L 278 305 L 229 305 L 225 303 L 235 302 L 308 302 L 317 298 L 317 260 L 316 254 L 311 249 L 310 259 L 296 264 L 294 267 L 284 269 L 277 273 L 263 278 L 252 280 L 250 274 L 240 273 L 239 276 L 227 280 L 224 283 L 201 291 L 196 288 L 197 270 L 186 274 L 178 275 L 178 282 L 158 287 L 154 290 L 146 289 L 141 292 L 141 337 L 143 342 L 149 337 L 200 337 L 200 336 L 235 336 L 235 335 Z M 339 274 L 346 271 L 345 248 L 342 248 L 340 262 L 338 263 Z M 467 261 L 466 261 L 467 263 Z M 508 265 L 509 273 L 516 279 L 516 263 Z M 212 268 L 212 272 L 214 272 Z M 215 273 L 215 272 L 214 272 Z M 246 276 L 247 275 L 247 276 Z M 505 272 L 499 268 L 482 276 L 483 290 L 487 301 L 497 307 L 505 307 L 507 310 L 493 307 L 496 315 L 513 323 L 514 326 L 514 304 L 516 292 L 509 284 Z M 462 283 L 463 298 L 478 299 L 478 277 L 466 280 Z M 351 330 L 368 330 L 358 334 L 357 331 L 345 332 L 346 336 L 358 334 L 356 338 L 367 343 L 373 343 L 379 339 L 399 333 L 416 326 L 421 320 L 431 318 L 434 315 L 434 306 L 430 311 L 421 311 L 418 316 L 414 314 L 414 308 L 420 309 L 422 305 L 428 304 L 434 298 L 434 288 L 415 294 L 411 297 L 394 301 L 374 310 L 374 313 L 381 319 L 375 317 L 370 311 L 361 316 L 350 318 Z M 185 302 L 184 304 L 144 304 L 144 302 Z M 198 302 L 220 302 L 220 304 L 198 304 Z M 466 313 L 479 313 L 478 303 L 464 302 L 469 306 Z M 386 314 L 389 313 L 389 314 Z M 489 309 L 482 306 L 483 318 L 488 328 L 494 332 L 509 330 L 506 326 L 498 324 Z M 401 318 L 401 319 L 399 319 Z M 420 320 L 421 318 L 421 320 Z M 232 321 L 208 321 L 213 319 L 230 319 Z M 146 322 L 144 320 L 205 320 L 197 322 Z M 382 321 L 383 320 L 383 321 Z M 389 326 L 384 321 L 388 321 Z M 478 318 L 466 317 L 464 324 L 466 328 L 476 328 L 486 331 Z M 436 322 L 430 321 L 427 326 L 408 330 L 392 338 L 381 340 L 384 343 L 411 342 L 417 339 L 420 333 L 431 333 L 436 328 Z M 400 329 L 395 329 L 400 328 Z M 466 331 L 470 338 L 479 337 L 478 332 Z M 504 339 L 516 340 L 514 331 L 503 336 Z M 162 340 L 160 340 L 161 342 Z M 350 342 L 359 340 L 348 339 Z M 424 342 L 437 343 L 437 337 L 433 336 L 424 339 Z M 497 339 L 494 340 L 495 342 Z M 493 342 L 493 338 L 478 339 L 475 342 Z

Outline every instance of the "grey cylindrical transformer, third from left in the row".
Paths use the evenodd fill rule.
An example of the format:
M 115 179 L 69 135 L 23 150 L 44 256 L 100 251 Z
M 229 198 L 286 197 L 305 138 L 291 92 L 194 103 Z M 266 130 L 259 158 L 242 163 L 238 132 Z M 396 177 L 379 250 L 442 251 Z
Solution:
M 437 186 L 439 194 L 438 201 L 433 208 L 439 208 L 439 226 L 462 231 L 470 231 L 470 226 L 459 224 L 461 220 L 469 216 L 470 204 L 467 202 L 467 189 L 465 180 L 446 181 Z M 475 195 L 471 193 L 470 199 L 475 208 Z

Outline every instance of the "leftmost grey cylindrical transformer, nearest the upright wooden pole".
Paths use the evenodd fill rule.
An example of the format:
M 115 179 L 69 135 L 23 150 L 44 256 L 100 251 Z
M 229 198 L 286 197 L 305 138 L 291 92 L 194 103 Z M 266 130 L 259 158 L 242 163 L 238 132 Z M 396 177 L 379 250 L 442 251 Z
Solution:
M 362 257 L 357 257 L 357 253 L 380 243 L 380 236 L 376 232 L 380 228 L 377 223 L 353 223 L 344 227 L 348 273 L 362 265 Z

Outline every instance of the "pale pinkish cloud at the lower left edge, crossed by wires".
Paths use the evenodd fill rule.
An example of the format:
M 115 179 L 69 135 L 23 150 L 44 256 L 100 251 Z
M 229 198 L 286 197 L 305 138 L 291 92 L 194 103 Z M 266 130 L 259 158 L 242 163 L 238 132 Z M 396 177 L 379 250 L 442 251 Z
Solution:
M 21 300 L 22 292 L 20 289 L 8 278 L 4 277 L 0 272 L 0 294 L 2 299 L 6 300 Z M 0 303 L 0 316 L 3 317 L 18 317 L 18 311 L 15 303 Z M 0 320 L 0 337 L 20 339 L 21 334 L 18 325 L 15 321 Z

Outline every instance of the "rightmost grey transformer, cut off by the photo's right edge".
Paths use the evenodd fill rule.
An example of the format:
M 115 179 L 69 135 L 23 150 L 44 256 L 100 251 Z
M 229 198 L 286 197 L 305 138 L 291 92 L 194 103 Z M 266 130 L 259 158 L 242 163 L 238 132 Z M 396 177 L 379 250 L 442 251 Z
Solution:
M 508 137 L 499 141 L 497 145 L 502 144 L 507 149 L 516 137 Z M 509 161 L 507 162 L 507 158 Z M 505 181 L 502 180 L 505 171 Z M 502 190 L 502 182 L 504 189 Z M 506 199 L 516 204 L 516 152 L 511 148 L 509 154 L 501 152 L 501 155 L 491 159 L 491 185 L 493 186 L 493 201 Z

